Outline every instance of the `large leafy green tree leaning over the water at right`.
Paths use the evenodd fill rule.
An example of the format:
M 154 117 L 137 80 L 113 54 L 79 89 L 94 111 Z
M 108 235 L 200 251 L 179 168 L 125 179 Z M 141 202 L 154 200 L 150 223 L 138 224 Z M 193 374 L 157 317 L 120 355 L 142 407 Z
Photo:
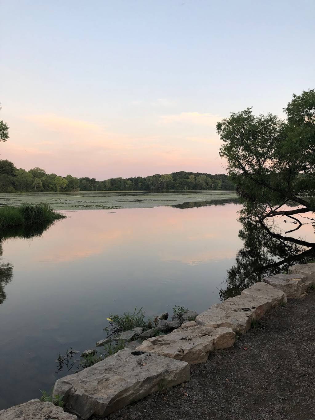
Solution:
M 286 216 L 299 228 L 303 222 L 294 215 L 315 210 L 315 90 L 293 95 L 284 112 L 285 121 L 255 116 L 251 108 L 231 113 L 217 123 L 220 156 L 256 223 Z M 290 201 L 297 208 L 288 209 Z

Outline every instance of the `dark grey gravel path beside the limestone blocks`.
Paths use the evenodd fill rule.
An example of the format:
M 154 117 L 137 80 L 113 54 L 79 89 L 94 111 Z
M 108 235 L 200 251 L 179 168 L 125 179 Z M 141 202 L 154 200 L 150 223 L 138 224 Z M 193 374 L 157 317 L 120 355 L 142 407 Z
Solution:
M 191 381 L 106 419 L 315 419 L 315 293 L 290 299 L 233 348 L 191 367 Z

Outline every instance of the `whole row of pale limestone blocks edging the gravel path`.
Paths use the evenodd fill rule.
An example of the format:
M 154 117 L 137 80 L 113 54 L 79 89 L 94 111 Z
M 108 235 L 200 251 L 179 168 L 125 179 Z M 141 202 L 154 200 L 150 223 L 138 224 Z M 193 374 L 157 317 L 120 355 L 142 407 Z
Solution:
M 285 303 L 286 297 L 299 297 L 314 286 L 315 263 L 295 265 L 288 274 L 266 277 L 264 282 L 213 305 L 198 315 L 196 322 L 183 323 L 169 334 L 146 339 L 135 350 L 120 350 L 79 373 L 58 379 L 53 396 L 63 398 L 66 411 L 87 420 L 92 415 L 105 417 L 146 395 L 189 381 L 190 364 L 205 362 L 215 349 L 233 346 L 236 333 L 245 333 L 253 321 Z M 0 411 L 0 420 L 28 418 L 27 410 L 33 406 L 37 411 L 31 418 L 43 420 L 47 418 L 45 410 L 54 406 L 39 404 L 52 406 L 32 400 Z M 76 418 L 59 407 L 53 414 L 54 419 Z

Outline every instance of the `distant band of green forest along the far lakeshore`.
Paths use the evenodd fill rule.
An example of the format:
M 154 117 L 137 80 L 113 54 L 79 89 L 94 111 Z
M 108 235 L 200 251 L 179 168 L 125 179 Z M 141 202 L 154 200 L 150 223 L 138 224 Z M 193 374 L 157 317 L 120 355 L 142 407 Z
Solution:
M 165 175 L 134 178 L 65 177 L 46 173 L 42 168 L 29 171 L 17 169 L 9 160 L 0 160 L 0 192 L 62 192 L 62 191 L 172 191 L 235 189 L 224 173 L 173 172 Z

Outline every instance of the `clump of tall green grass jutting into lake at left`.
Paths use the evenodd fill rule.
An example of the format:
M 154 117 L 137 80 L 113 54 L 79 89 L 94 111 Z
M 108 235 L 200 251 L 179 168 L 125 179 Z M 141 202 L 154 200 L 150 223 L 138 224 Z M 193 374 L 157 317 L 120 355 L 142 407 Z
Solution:
M 0 229 L 24 228 L 45 223 L 53 223 L 66 216 L 55 212 L 47 204 L 24 204 L 0 207 Z

